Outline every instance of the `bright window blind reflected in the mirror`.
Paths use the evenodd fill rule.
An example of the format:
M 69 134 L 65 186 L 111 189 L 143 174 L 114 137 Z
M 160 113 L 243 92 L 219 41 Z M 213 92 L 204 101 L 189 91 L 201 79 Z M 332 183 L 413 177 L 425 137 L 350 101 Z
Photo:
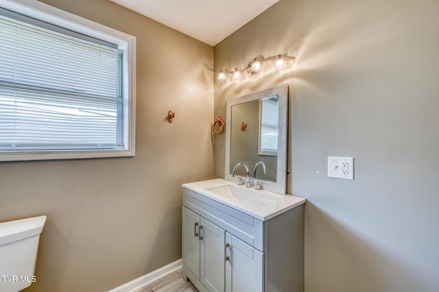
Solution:
M 264 98 L 261 101 L 260 155 L 276 155 L 277 153 L 278 118 L 278 96 Z

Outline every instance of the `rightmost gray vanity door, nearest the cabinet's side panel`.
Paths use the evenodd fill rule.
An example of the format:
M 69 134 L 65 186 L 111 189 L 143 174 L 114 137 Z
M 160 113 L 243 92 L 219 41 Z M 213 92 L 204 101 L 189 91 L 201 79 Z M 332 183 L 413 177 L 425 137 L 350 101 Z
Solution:
M 226 233 L 226 292 L 263 291 L 263 252 Z

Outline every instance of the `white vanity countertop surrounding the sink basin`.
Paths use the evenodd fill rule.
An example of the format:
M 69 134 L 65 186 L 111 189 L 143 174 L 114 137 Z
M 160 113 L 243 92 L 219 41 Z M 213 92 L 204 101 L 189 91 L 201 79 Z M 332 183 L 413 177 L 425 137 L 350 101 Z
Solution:
M 297 196 L 288 194 L 281 195 L 271 191 L 254 190 L 253 188 L 252 190 L 257 191 L 259 195 L 246 200 L 233 200 L 233 198 L 220 196 L 215 194 L 213 191 L 209 191 L 209 189 L 212 187 L 219 187 L 222 185 L 235 185 L 237 187 L 243 187 L 244 189 L 246 188 L 244 185 L 238 186 L 236 183 L 224 180 L 224 178 L 216 178 L 209 181 L 198 181 L 195 183 L 184 183 L 182 187 L 195 191 L 202 196 L 211 198 L 217 202 L 225 204 L 228 207 L 237 209 L 262 221 L 269 220 L 278 214 L 288 211 L 289 209 L 293 209 L 294 207 L 306 202 L 304 198 Z

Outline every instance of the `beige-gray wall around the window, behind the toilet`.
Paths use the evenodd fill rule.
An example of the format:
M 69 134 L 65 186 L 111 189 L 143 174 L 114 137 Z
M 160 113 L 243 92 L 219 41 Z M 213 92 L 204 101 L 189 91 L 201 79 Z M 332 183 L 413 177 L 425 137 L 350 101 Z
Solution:
M 137 152 L 0 163 L 0 222 L 47 215 L 27 291 L 108 291 L 181 258 L 181 184 L 213 178 L 213 48 L 107 0 L 44 2 L 137 37 Z

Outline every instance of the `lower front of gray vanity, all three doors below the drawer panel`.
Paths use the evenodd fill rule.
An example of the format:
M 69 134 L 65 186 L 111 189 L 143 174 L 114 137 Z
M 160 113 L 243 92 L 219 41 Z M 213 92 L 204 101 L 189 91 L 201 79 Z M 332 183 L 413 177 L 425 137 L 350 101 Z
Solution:
M 183 265 L 199 291 L 263 291 L 262 252 L 186 207 L 182 226 Z

